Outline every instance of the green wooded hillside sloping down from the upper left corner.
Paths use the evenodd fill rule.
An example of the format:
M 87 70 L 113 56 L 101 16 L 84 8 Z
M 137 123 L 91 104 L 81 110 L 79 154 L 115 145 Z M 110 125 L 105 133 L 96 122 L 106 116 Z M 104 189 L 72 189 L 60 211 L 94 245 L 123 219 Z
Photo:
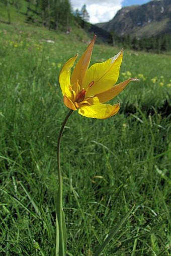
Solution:
M 90 41 L 92 36 L 96 34 L 97 43 L 112 44 L 112 36 L 108 31 L 84 22 L 81 19 L 76 19 L 71 12 L 69 16 L 62 16 L 64 7 L 65 5 L 61 6 L 61 10 L 58 9 L 61 19 L 58 21 L 58 26 L 56 26 L 57 18 L 53 16 L 53 13 L 49 12 L 48 14 L 46 7 L 44 10 L 46 16 L 42 16 L 42 11 L 36 2 L 20 0 L 19 2 L 9 2 L 9 5 L 7 5 L 5 0 L 0 1 L 0 24 L 15 25 L 18 29 L 22 26 L 33 26 L 36 30 L 44 27 L 54 32 L 54 34 L 64 33 L 70 35 L 73 40 L 76 39 L 82 42 Z M 53 9 L 53 6 L 51 8 Z M 54 13 L 56 14 L 55 10 Z

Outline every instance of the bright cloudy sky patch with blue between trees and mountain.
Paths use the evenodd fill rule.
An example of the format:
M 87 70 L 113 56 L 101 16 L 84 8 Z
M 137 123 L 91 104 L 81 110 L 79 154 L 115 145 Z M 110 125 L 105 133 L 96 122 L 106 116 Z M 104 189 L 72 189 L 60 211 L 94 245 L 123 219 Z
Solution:
M 148 2 L 150 0 L 70 0 L 73 11 L 80 10 L 86 5 L 92 24 L 112 20 L 122 7 L 143 5 Z

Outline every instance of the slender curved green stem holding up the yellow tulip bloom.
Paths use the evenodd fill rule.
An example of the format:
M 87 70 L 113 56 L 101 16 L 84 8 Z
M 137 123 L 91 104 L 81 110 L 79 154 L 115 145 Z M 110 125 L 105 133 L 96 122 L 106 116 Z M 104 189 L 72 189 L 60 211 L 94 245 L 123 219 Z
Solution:
M 65 221 L 63 215 L 63 204 L 62 204 L 62 175 L 60 168 L 60 143 L 62 138 L 62 133 L 65 127 L 65 124 L 72 114 L 73 110 L 70 110 L 66 115 L 62 126 L 60 128 L 58 142 L 57 142 L 57 172 L 58 172 L 58 198 L 56 204 L 56 253 L 55 256 L 65 256 L 66 255 L 66 229 L 65 229 Z

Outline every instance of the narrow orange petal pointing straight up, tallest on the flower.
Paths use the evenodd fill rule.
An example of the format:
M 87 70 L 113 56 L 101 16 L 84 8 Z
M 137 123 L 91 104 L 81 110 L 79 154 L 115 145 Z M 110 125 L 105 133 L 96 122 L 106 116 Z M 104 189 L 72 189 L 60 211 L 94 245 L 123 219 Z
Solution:
M 87 72 L 87 69 L 90 64 L 93 46 L 96 40 L 96 36 L 94 36 L 92 42 L 89 44 L 87 50 L 83 53 L 79 61 L 77 62 L 72 75 L 71 75 L 71 84 L 76 83 L 78 80 L 78 83 L 82 89 L 82 80 L 84 79 L 85 73 Z

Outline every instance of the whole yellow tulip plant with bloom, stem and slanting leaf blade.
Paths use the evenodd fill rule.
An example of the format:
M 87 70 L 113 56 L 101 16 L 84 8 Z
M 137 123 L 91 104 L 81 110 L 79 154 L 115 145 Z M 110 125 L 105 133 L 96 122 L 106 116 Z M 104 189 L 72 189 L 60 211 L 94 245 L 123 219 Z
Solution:
M 137 78 L 127 79 L 117 85 L 120 66 L 123 58 L 121 50 L 116 56 L 102 62 L 96 63 L 89 68 L 93 46 L 96 40 L 94 36 L 87 50 L 80 57 L 71 74 L 75 60 L 78 56 L 70 58 L 62 67 L 59 74 L 59 84 L 63 94 L 63 102 L 70 109 L 66 115 L 58 136 L 57 143 L 57 167 L 58 167 L 58 198 L 56 202 L 56 253 L 55 256 L 66 256 L 66 228 L 62 206 L 62 175 L 60 168 L 60 142 L 64 126 L 73 111 L 78 110 L 78 114 L 98 119 L 106 119 L 114 116 L 120 109 L 120 103 L 115 105 L 104 104 L 116 97 L 130 81 L 139 80 Z M 94 256 L 99 256 L 106 245 L 120 229 L 122 224 L 129 217 L 134 206 L 121 219 L 117 226 L 111 230 L 108 237 L 95 251 Z

